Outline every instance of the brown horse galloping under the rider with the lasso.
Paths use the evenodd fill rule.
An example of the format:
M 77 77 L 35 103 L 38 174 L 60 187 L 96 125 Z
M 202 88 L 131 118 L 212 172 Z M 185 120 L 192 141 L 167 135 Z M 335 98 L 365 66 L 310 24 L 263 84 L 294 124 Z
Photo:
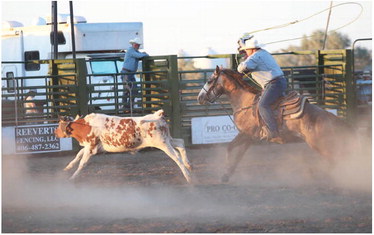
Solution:
M 250 143 L 260 138 L 261 120 L 257 112 L 257 101 L 261 91 L 243 81 L 242 74 L 220 69 L 218 66 L 201 89 L 200 104 L 213 103 L 222 94 L 227 95 L 233 109 L 234 122 L 239 134 L 227 147 L 227 170 L 222 177 L 227 182 Z M 279 111 L 279 108 L 278 108 Z M 275 114 L 277 109 L 275 109 Z M 305 102 L 303 113 L 294 119 L 283 119 L 279 126 L 283 140 L 290 136 L 303 139 L 311 148 L 327 158 L 330 165 L 337 157 L 349 152 L 350 137 L 354 134 L 351 126 L 324 109 Z M 234 156 L 232 151 L 237 149 Z

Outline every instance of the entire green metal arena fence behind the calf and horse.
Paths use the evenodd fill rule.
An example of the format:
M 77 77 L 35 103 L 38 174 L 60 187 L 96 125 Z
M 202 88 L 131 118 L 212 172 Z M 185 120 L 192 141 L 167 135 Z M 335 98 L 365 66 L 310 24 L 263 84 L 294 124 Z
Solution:
M 287 53 L 283 53 L 287 54 Z M 276 56 L 283 56 L 277 53 Z M 289 89 L 308 96 L 311 103 L 335 110 L 337 115 L 353 120 L 355 87 L 349 50 L 294 52 L 292 55 L 315 55 L 313 66 L 282 67 Z M 213 69 L 181 70 L 178 63 L 192 59 L 226 58 L 228 67 L 236 68 L 237 55 L 203 57 L 155 56 L 143 60 L 143 70 L 136 73 L 136 89 L 131 92 L 133 116 L 164 109 L 172 135 L 191 144 L 191 119 L 202 116 L 232 114 L 228 101 L 199 105 L 196 97 Z M 24 62 L 3 62 L 7 65 Z M 122 76 L 126 73 L 88 74 L 87 61 L 42 60 L 28 63 L 48 64 L 49 72 L 41 76 L 2 75 L 2 124 L 56 123 L 59 115 L 75 116 L 90 112 L 129 116 L 124 102 L 128 90 Z M 100 78 L 101 82 L 97 82 Z M 104 79 L 103 79 L 104 78 Z M 247 79 L 247 82 L 251 83 Z M 38 84 L 38 85 L 35 85 Z M 37 91 L 27 100 L 30 90 Z M 35 107 L 30 107 L 31 103 Z

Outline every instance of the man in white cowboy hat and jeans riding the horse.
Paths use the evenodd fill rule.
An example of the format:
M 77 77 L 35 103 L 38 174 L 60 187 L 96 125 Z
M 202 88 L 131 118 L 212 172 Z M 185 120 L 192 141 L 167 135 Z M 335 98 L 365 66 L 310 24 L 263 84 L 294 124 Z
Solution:
M 264 128 L 262 139 L 277 140 L 279 131 L 271 105 L 284 95 L 287 80 L 283 71 L 266 50 L 261 48 L 253 35 L 239 39 L 239 52 L 245 53 L 245 61 L 238 66 L 238 72 L 251 73 L 252 78 L 262 87 L 263 92 L 259 100 L 259 113 L 267 128 Z

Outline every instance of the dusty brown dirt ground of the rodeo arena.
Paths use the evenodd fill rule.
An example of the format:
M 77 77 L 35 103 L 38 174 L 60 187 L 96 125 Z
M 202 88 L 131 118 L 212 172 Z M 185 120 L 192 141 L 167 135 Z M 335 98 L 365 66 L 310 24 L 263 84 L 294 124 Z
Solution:
M 372 231 L 371 145 L 334 170 L 304 143 L 256 145 L 221 184 L 224 153 L 188 148 L 192 185 L 158 150 L 97 155 L 74 182 L 73 153 L 3 156 L 2 232 Z

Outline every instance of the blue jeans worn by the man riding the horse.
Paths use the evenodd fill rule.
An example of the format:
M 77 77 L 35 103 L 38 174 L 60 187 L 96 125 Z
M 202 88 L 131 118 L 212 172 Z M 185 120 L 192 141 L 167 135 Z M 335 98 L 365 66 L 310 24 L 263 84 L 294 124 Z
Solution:
M 281 96 L 285 94 L 287 88 L 287 80 L 285 77 L 277 79 L 275 82 L 268 83 L 258 102 L 259 112 L 269 131 L 278 132 L 277 121 L 275 120 L 271 105 Z

